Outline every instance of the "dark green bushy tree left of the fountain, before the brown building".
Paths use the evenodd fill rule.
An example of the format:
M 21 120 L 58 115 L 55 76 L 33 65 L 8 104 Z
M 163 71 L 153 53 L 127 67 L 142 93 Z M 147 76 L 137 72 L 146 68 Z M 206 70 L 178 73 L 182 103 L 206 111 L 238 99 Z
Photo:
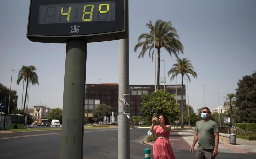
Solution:
M 100 104 L 95 110 L 92 111 L 93 117 L 92 120 L 94 122 L 103 121 L 104 116 L 110 117 L 112 115 L 113 108 L 110 105 Z

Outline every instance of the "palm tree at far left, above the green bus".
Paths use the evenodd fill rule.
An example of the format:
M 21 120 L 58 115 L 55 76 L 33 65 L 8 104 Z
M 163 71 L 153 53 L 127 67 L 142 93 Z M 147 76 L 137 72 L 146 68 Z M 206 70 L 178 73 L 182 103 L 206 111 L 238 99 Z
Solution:
M 24 84 L 24 82 L 27 82 L 23 111 L 25 111 L 28 83 L 30 82 L 32 85 L 38 84 L 38 76 L 35 71 L 36 71 L 36 67 L 32 66 L 32 65 L 31 66 L 22 66 L 22 68 L 19 70 L 17 84 L 19 85 L 19 82 L 22 79 L 23 79 L 23 84 Z

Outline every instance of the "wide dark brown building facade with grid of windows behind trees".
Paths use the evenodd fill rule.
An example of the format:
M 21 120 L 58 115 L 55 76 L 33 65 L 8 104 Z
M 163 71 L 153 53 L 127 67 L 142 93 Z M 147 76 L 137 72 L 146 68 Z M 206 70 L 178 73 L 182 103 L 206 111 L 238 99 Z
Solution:
M 164 89 L 164 85 L 160 85 Z M 141 116 L 141 95 L 155 91 L 155 85 L 130 85 L 130 115 Z M 182 85 L 177 85 L 177 103 L 181 110 Z M 176 94 L 176 85 L 165 85 L 165 91 Z M 86 84 L 84 109 L 94 110 L 99 104 L 110 105 L 118 113 L 118 83 Z M 183 106 L 186 105 L 186 87 L 183 85 Z M 185 107 L 184 111 L 185 111 Z

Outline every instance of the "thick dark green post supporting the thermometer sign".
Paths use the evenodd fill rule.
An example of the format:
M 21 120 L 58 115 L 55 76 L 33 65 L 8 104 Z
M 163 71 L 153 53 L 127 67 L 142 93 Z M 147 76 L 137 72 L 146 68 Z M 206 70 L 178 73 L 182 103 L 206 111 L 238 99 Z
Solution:
M 86 55 L 86 40 L 67 41 L 60 159 L 83 158 Z

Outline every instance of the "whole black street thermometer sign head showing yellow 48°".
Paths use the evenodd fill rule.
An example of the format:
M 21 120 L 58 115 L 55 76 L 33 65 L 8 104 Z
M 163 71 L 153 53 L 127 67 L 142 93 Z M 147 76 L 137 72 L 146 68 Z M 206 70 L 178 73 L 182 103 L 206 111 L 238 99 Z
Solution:
M 27 38 L 34 42 L 87 42 L 128 37 L 126 0 L 30 0 Z

